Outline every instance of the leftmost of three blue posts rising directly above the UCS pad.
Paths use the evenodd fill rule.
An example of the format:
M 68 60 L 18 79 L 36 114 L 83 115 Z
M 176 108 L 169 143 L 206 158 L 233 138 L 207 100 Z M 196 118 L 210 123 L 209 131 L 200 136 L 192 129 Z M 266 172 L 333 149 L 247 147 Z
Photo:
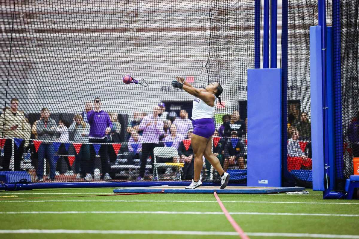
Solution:
M 254 68 L 261 68 L 261 0 L 254 3 Z

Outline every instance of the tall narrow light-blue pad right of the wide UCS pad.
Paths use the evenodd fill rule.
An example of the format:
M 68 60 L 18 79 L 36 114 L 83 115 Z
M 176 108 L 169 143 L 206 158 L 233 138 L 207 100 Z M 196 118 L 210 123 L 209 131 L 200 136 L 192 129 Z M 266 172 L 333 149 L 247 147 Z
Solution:
M 321 27 L 310 27 L 313 190 L 324 191 Z M 249 140 L 248 140 L 249 141 Z

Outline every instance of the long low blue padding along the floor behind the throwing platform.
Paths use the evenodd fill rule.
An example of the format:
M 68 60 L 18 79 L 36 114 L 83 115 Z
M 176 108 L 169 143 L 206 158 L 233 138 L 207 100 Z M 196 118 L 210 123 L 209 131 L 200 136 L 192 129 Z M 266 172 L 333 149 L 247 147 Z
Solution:
M 21 171 L 23 172 L 23 171 Z M 88 188 L 88 187 L 151 187 L 163 184 L 171 186 L 188 186 L 190 181 L 142 181 L 142 182 L 42 182 L 42 183 L 1 183 L 0 190 L 31 190 L 46 188 Z M 229 186 L 246 186 L 229 183 Z M 203 186 L 220 186 L 219 183 L 203 182 Z

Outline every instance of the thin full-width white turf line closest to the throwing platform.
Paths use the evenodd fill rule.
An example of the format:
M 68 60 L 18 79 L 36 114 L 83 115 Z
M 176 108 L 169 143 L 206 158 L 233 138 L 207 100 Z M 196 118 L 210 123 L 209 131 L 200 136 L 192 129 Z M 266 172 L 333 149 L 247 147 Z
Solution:
M 217 202 L 217 201 L 185 201 L 185 200 L 0 200 L 1 202 Z M 222 201 L 234 203 L 279 203 L 279 204 L 343 204 L 359 205 L 356 202 L 269 202 L 269 201 Z

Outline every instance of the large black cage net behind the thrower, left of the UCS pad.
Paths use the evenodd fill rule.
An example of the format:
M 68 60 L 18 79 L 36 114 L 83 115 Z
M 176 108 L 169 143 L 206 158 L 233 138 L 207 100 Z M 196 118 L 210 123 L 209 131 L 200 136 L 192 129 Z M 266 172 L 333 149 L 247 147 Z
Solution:
M 0 9 L 3 171 L 32 182 L 191 179 L 194 97 L 171 86 L 176 76 L 220 82 L 216 129 L 226 114 L 245 127 L 254 1 L 6 0 Z M 224 165 L 241 180 L 238 132 L 216 133 L 213 147 L 223 164 L 241 159 Z M 202 178 L 216 180 L 204 165 Z

